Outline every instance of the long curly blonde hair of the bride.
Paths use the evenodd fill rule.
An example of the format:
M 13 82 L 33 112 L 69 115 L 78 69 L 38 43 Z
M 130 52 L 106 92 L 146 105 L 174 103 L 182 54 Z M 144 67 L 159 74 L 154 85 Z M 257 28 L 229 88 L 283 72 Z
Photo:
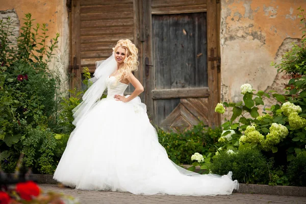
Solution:
M 129 39 L 119 40 L 116 46 L 113 48 L 114 54 L 117 52 L 119 47 L 125 48 L 125 59 L 123 61 L 123 65 L 120 69 L 118 69 L 119 74 L 116 75 L 116 79 L 118 81 L 129 78 L 129 73 L 132 71 L 137 71 L 138 69 L 138 49 L 133 44 L 133 42 Z

